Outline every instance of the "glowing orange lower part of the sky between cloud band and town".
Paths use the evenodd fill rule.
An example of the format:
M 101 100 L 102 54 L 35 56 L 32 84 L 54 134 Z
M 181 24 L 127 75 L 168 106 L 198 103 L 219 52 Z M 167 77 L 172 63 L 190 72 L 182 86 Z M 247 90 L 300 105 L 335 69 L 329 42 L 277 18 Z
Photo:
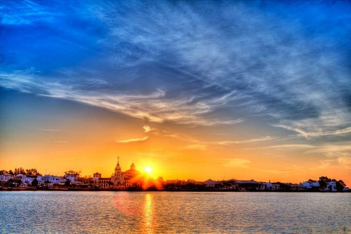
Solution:
M 184 126 L 153 123 L 123 116 L 97 107 L 60 99 L 21 94 L 22 112 L 2 113 L 0 165 L 37 168 L 42 174 L 64 171 L 94 172 L 110 176 L 120 157 L 122 170 L 134 160 L 137 170 L 151 166 L 152 176 L 164 179 L 255 179 L 300 182 L 329 176 L 351 184 L 348 164 L 332 165 L 308 145 L 287 143 L 276 135 L 265 135 L 259 127 Z M 20 104 L 22 103 L 22 104 Z M 47 116 L 33 111 L 46 108 Z M 63 115 L 57 105 L 69 109 Z M 23 108 L 21 108 L 23 107 Z M 27 108 L 27 109 L 26 109 Z M 37 113 L 37 112 L 36 112 Z M 261 133 L 263 132 L 263 133 Z M 262 137 L 255 137 L 261 135 Z

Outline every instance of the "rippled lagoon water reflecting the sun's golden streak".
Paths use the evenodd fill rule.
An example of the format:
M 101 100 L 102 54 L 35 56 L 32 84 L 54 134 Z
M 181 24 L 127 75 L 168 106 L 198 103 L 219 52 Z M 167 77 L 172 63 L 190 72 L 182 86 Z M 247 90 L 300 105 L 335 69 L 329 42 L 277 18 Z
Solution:
M 1 234 L 311 231 L 351 233 L 351 194 L 0 192 Z

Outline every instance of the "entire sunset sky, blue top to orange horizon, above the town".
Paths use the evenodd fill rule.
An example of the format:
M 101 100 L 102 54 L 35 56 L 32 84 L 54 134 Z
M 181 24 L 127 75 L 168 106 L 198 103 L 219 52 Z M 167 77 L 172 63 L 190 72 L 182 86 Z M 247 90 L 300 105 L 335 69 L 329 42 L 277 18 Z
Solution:
M 0 168 L 351 186 L 348 1 L 2 1 Z

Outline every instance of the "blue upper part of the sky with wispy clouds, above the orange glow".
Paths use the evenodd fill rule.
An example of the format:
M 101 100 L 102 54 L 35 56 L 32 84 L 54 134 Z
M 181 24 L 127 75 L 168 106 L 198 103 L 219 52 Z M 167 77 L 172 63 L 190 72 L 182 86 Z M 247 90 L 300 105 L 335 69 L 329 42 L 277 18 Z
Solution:
M 351 162 L 348 1 L 26 0 L 0 10 L 3 97 L 179 128 L 254 124 L 265 134 L 253 139 L 277 135 L 283 148 Z

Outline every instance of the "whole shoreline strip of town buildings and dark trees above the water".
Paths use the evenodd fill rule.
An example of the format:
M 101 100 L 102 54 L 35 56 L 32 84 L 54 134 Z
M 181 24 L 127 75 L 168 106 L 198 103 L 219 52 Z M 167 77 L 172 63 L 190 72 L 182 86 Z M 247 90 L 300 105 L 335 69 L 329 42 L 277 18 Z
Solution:
M 117 157 L 119 159 L 119 157 Z M 259 181 L 254 179 L 222 179 L 205 181 L 195 179 L 153 178 L 152 168 L 137 170 L 134 162 L 128 170 L 122 170 L 119 160 L 111 176 L 95 172 L 93 176 L 81 176 L 80 171 L 69 170 L 64 175 L 40 174 L 35 168 L 15 168 L 14 171 L 0 170 L 0 190 L 38 190 L 54 191 L 227 191 L 227 192 L 350 192 L 342 179 L 320 176 L 318 180 L 303 182 Z M 20 188 L 19 188 L 20 187 Z M 29 187 L 29 188 L 28 188 Z

